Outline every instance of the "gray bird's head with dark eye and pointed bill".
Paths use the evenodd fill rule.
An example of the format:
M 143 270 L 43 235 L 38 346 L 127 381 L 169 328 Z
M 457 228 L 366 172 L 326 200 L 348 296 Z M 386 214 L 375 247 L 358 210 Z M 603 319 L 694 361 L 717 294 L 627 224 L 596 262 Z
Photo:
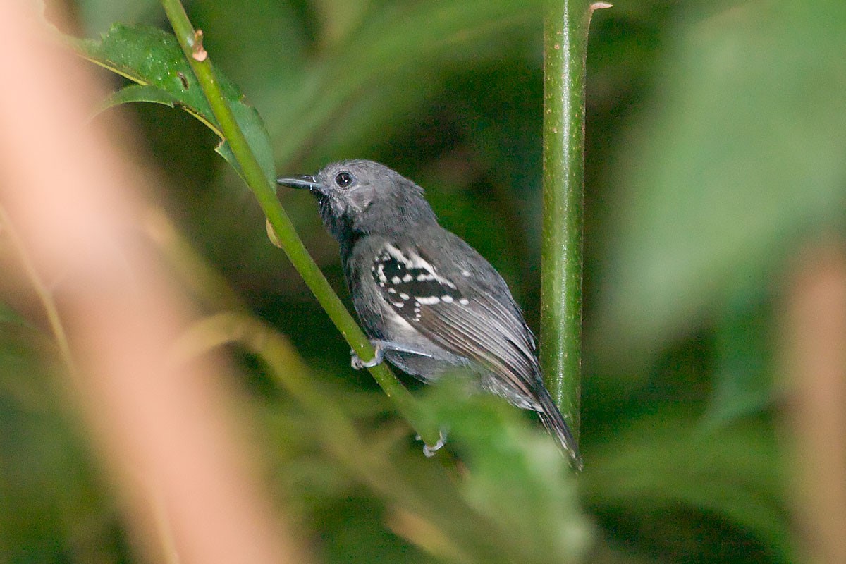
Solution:
M 278 178 L 277 183 L 315 194 L 324 225 L 342 243 L 437 222 L 423 189 L 378 162 L 332 162 L 314 175 Z

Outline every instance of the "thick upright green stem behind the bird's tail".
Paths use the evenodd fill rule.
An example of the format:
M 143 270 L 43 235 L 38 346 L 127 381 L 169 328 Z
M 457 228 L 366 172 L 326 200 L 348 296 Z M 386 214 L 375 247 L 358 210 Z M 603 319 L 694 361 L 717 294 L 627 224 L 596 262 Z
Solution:
M 607 4 L 550 0 L 544 14 L 541 368 L 578 440 L 581 394 L 585 56 L 591 13 Z

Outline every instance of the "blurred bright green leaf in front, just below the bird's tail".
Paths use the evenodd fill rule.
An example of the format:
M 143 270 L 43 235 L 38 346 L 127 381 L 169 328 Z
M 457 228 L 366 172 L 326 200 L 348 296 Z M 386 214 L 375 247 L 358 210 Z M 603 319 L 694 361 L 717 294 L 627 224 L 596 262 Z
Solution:
M 464 499 L 486 516 L 515 550 L 514 561 L 576 562 L 591 533 L 580 512 L 567 460 L 519 409 L 494 397 L 466 397 L 456 382 L 437 386 L 429 401 L 469 470 Z

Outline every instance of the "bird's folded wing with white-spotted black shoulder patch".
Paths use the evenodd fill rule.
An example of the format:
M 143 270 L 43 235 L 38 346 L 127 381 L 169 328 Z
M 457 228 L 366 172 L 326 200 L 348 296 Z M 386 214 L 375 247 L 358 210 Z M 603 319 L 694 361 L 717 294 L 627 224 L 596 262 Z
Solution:
M 502 376 L 509 392 L 536 398 L 533 337 L 505 282 L 470 252 L 478 257 L 473 265 L 447 268 L 420 246 L 385 244 L 371 275 L 382 298 L 416 331 Z

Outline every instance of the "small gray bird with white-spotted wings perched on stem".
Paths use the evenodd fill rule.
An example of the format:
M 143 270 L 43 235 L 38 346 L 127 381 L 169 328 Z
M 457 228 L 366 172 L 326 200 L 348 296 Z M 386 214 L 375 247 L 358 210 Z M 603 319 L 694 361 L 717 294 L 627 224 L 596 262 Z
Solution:
M 438 225 L 423 189 L 377 162 L 333 162 L 314 176 L 278 178 L 315 194 L 338 240 L 355 310 L 382 358 L 431 383 L 449 370 L 478 376 L 483 390 L 536 411 L 581 468 L 578 447 L 543 386 L 535 338 L 503 277 Z

